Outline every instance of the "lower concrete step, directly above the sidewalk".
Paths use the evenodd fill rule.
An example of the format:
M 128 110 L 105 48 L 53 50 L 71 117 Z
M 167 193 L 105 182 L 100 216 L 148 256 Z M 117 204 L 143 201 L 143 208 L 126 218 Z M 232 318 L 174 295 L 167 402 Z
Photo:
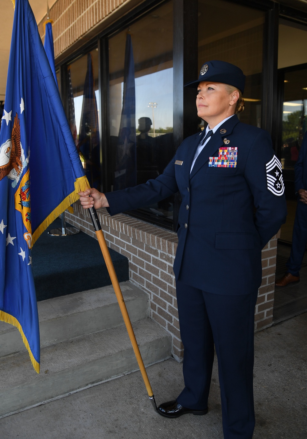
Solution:
M 171 336 L 163 328 L 150 318 L 132 326 L 145 365 L 170 357 Z M 0 358 L 0 417 L 138 369 L 125 326 L 46 346 L 40 367 L 36 374 L 27 352 Z

